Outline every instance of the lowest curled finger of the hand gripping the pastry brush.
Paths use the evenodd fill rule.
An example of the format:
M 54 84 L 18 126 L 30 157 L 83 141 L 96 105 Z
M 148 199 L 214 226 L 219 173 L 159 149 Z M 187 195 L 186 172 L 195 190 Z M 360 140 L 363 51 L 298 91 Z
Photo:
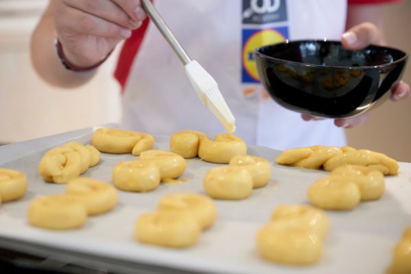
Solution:
M 88 34 L 114 39 L 127 39 L 132 35 L 130 29 L 70 7 L 60 14 L 55 24 L 57 29 L 73 34 Z

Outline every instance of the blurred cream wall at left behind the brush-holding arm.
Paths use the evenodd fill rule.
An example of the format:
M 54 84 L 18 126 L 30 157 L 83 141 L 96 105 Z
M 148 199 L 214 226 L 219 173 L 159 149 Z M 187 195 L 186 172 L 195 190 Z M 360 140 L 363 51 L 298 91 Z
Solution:
M 53 88 L 36 75 L 29 36 L 45 5 L 45 0 L 0 1 L 0 143 L 121 118 L 119 86 L 112 77 L 116 54 L 92 82 L 77 90 Z

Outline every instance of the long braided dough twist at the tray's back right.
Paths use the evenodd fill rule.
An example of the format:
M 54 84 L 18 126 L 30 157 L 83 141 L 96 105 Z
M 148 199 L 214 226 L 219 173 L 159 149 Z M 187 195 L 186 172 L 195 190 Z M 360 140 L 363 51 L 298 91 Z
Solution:
M 357 164 L 377 169 L 384 175 L 397 175 L 398 162 L 383 153 L 353 147 L 301 147 L 284 151 L 275 160 L 277 164 L 332 171 L 345 164 Z

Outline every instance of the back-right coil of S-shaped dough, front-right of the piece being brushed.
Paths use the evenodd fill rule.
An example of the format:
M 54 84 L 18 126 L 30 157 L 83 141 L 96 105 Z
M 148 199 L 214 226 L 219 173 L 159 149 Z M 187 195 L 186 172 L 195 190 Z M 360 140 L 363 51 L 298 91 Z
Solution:
M 246 169 L 253 177 L 253 188 L 261 188 L 268 184 L 271 177 L 270 163 L 264 158 L 238 155 L 229 161 L 230 166 L 240 166 Z

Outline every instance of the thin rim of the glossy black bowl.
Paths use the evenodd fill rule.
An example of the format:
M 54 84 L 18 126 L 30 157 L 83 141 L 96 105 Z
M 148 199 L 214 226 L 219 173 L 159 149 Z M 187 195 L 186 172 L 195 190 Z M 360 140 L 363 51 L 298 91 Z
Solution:
M 266 55 L 264 53 L 261 53 L 260 50 L 267 48 L 267 47 L 273 47 L 273 46 L 277 46 L 277 45 L 284 45 L 284 44 L 292 44 L 292 43 L 301 43 L 301 42 L 325 42 L 325 43 L 331 43 L 331 44 L 338 44 L 338 45 L 342 45 L 340 41 L 338 40 L 286 40 L 285 42 L 279 42 L 276 44 L 270 44 L 270 45 L 265 45 L 262 47 L 258 47 L 254 53 L 256 55 L 259 55 L 261 58 L 266 58 L 268 60 L 278 60 L 278 61 L 282 61 L 282 62 L 287 62 L 289 64 L 299 64 L 300 66 L 308 66 L 308 67 L 314 67 L 314 68 L 323 68 L 323 69 L 355 69 L 355 70 L 359 70 L 359 69 L 382 69 L 386 66 L 390 66 L 393 64 L 397 64 L 400 62 L 404 62 L 407 61 L 408 59 L 408 53 L 406 53 L 405 51 L 402 51 L 401 49 L 396 49 L 394 47 L 386 47 L 386 46 L 379 46 L 379 45 L 368 45 L 367 47 L 365 47 L 364 49 L 367 49 L 369 47 L 377 47 L 379 49 L 388 49 L 390 51 L 397 51 L 399 53 L 403 53 L 403 57 L 399 58 L 398 60 L 395 60 L 394 62 L 390 62 L 390 63 L 385 63 L 385 64 L 379 64 L 377 66 L 323 66 L 321 64 L 308 64 L 308 63 L 302 63 L 302 62 L 295 62 L 295 61 L 289 61 L 289 60 L 285 60 L 285 59 L 280 59 L 280 58 L 275 58 L 272 57 L 270 55 Z M 351 50 L 351 51 L 362 51 L 364 49 L 358 49 L 358 50 Z M 347 49 L 348 51 L 350 51 L 349 49 Z

